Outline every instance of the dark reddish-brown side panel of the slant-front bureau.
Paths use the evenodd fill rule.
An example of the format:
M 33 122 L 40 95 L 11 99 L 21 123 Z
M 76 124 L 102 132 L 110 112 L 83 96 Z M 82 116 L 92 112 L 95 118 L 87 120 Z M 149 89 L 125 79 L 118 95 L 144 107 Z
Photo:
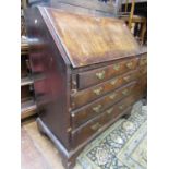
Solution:
M 26 11 L 26 26 L 39 118 L 69 149 L 69 69 L 37 8 Z

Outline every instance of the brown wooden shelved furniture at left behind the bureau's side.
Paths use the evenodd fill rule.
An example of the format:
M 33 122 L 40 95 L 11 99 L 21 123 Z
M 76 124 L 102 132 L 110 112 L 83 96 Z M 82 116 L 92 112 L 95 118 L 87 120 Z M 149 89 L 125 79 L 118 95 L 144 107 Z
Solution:
M 28 43 L 26 38 L 22 38 L 21 41 L 21 119 L 23 120 L 36 113 L 36 104 L 29 68 Z

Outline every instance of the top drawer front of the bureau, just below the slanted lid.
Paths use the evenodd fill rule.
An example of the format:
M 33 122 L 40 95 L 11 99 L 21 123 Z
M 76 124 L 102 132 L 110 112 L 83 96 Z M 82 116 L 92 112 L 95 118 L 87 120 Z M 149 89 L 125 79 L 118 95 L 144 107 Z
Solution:
M 125 59 L 123 61 L 114 62 L 111 65 L 79 73 L 77 75 L 77 88 L 83 89 L 106 80 L 110 80 L 113 75 L 118 75 L 131 70 L 134 70 L 137 65 L 137 58 Z

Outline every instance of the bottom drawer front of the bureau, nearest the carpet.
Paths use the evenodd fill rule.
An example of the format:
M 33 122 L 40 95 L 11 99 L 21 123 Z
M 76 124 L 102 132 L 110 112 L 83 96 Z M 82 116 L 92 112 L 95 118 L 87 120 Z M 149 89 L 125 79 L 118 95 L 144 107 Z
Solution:
M 117 105 L 107 109 L 105 113 L 102 113 L 98 118 L 90 120 L 88 123 L 86 123 L 86 125 L 83 125 L 81 129 L 73 131 L 72 132 L 73 146 L 75 147 L 85 142 L 90 136 L 93 136 L 93 134 L 101 132 L 104 125 L 106 125 L 111 120 L 126 112 L 128 108 L 131 108 L 131 106 L 134 102 L 135 102 L 135 96 L 131 95 L 121 100 L 120 102 L 118 102 Z

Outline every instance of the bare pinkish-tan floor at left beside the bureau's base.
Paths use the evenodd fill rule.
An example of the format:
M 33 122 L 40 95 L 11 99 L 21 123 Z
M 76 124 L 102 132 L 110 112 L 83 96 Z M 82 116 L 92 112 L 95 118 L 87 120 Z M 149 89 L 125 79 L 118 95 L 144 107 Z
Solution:
M 37 130 L 36 121 L 21 128 L 22 169 L 63 169 L 61 158 L 52 143 Z M 81 169 L 75 166 L 74 169 Z

